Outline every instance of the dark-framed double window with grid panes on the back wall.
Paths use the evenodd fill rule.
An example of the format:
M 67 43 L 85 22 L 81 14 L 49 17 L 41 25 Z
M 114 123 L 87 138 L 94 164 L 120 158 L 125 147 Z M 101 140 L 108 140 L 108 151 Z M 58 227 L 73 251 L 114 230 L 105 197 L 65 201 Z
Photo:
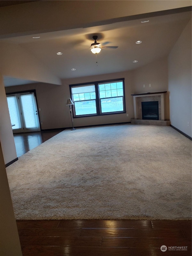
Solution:
M 124 78 L 70 85 L 73 116 L 125 113 Z

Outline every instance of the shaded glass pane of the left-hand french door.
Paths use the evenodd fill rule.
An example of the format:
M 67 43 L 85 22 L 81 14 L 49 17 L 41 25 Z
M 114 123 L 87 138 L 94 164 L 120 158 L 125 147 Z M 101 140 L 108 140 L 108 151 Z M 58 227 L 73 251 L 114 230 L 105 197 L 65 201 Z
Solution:
M 20 125 L 20 122 L 19 122 L 19 116 L 18 116 L 15 96 L 7 97 L 7 103 L 8 103 L 8 108 L 9 108 L 9 115 L 10 115 L 10 119 L 11 119 L 11 124 L 14 125 L 12 128 L 13 128 L 13 130 L 14 129 L 20 129 L 21 125 Z

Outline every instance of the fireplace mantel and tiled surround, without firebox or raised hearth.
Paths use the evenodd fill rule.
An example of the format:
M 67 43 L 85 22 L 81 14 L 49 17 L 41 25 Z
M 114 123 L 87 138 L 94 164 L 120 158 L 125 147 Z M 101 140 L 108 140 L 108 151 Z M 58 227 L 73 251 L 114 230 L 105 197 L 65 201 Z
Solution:
M 148 93 L 131 94 L 134 100 L 134 119 L 142 119 L 141 117 L 142 101 L 159 101 L 159 113 L 160 113 L 159 120 L 164 121 L 166 92 L 148 92 Z

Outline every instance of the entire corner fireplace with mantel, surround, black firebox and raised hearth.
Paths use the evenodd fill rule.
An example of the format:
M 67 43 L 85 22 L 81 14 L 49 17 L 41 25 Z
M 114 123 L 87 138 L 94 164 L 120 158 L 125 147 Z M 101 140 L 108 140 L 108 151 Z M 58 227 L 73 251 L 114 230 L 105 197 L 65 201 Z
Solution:
M 132 124 L 170 125 L 165 119 L 166 92 L 131 94 L 134 100 L 134 118 Z

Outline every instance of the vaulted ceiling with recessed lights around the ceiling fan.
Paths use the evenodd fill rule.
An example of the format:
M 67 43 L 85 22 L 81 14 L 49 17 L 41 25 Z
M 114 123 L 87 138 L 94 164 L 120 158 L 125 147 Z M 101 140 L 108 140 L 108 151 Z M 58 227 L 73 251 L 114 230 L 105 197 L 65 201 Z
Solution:
M 190 18 L 189 11 L 149 17 L 147 23 L 141 23 L 145 18 L 1 40 L 19 44 L 60 79 L 84 77 L 132 70 L 168 56 Z M 118 48 L 104 48 L 94 55 L 89 50 L 93 35 L 98 35 L 99 43 Z M 136 44 L 138 40 L 142 43 Z M 58 56 L 57 52 L 63 54 Z M 5 86 L 34 82 L 4 77 Z

